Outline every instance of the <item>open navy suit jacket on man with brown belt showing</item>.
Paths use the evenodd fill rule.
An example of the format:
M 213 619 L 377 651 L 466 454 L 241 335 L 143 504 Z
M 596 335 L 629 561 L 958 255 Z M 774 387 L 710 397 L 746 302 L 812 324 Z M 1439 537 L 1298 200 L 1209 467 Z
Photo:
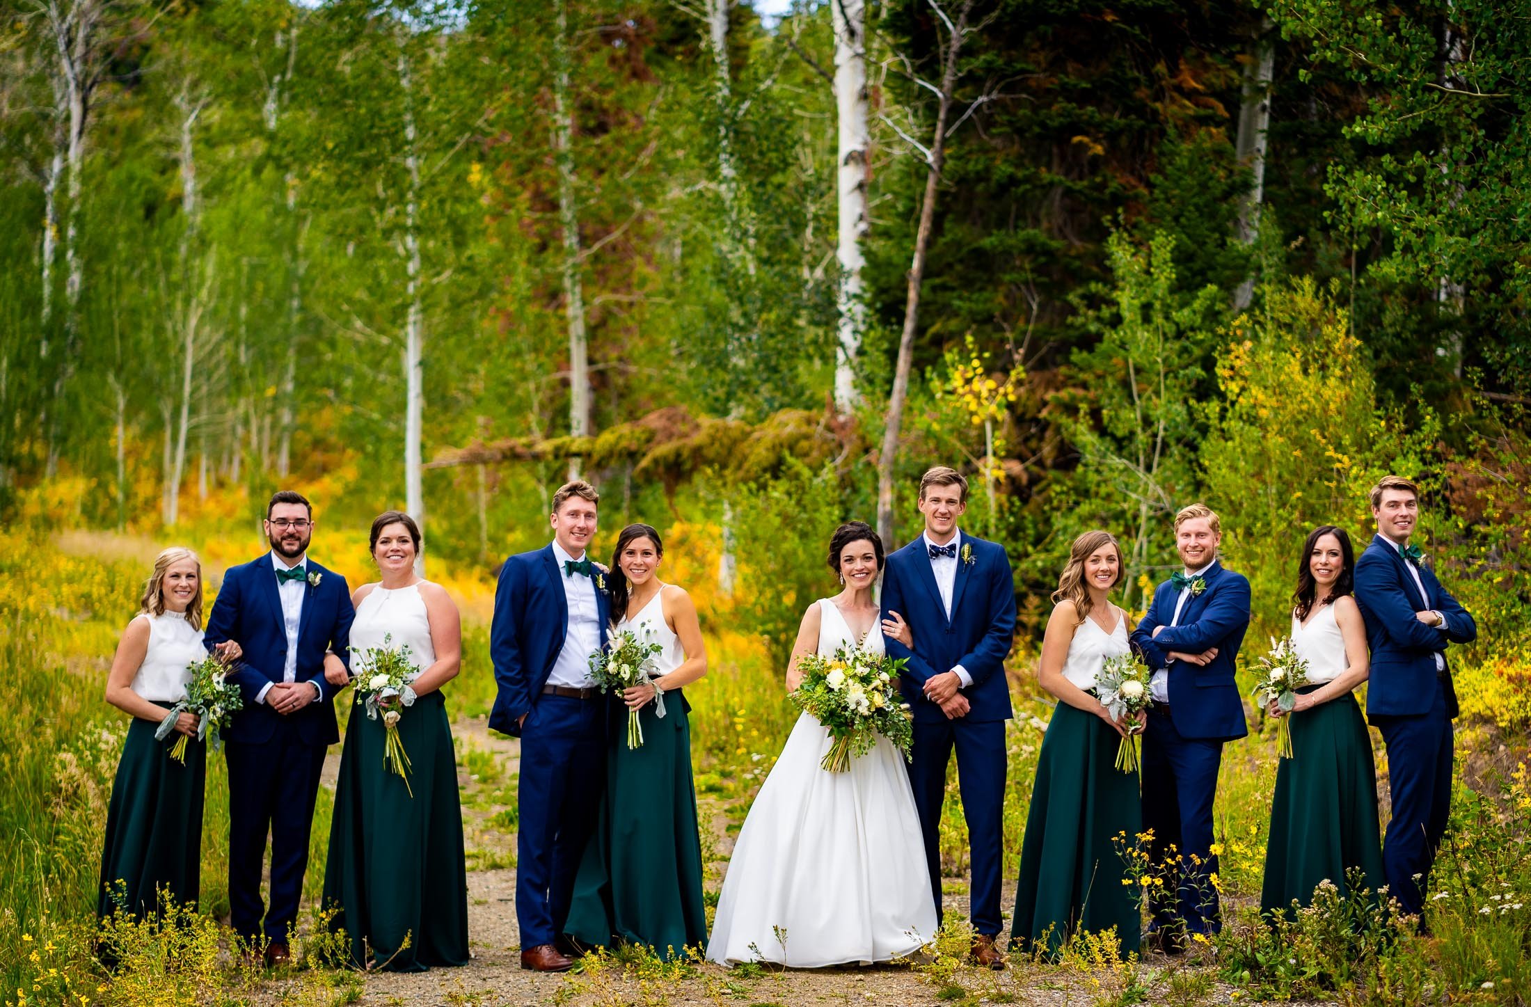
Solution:
M 583 574 L 574 574 L 582 577 Z M 603 577 L 605 578 L 605 577 Z M 611 620 L 609 597 L 596 585 L 596 606 L 600 612 L 600 646 L 606 646 Z M 563 595 L 563 571 L 553 556 L 553 545 L 533 552 L 517 552 L 499 569 L 495 588 L 495 621 L 490 626 L 488 652 L 495 661 L 495 683 L 499 692 L 488 725 L 507 735 L 521 736 L 516 722 L 542 698 L 548 673 L 559 660 L 568 635 L 570 611 Z

